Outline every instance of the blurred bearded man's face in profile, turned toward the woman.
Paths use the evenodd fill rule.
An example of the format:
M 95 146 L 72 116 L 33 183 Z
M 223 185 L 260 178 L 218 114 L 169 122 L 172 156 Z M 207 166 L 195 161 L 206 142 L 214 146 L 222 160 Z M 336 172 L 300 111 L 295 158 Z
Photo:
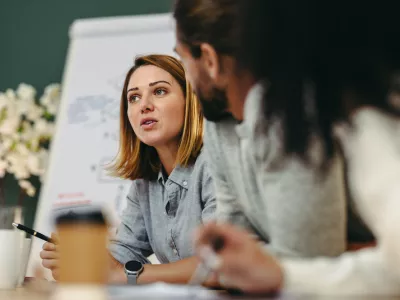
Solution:
M 226 89 L 216 86 L 207 66 L 201 59 L 192 56 L 187 45 L 177 41 L 175 51 L 180 56 L 186 76 L 201 102 L 204 117 L 213 122 L 229 117 L 231 114 L 228 111 Z

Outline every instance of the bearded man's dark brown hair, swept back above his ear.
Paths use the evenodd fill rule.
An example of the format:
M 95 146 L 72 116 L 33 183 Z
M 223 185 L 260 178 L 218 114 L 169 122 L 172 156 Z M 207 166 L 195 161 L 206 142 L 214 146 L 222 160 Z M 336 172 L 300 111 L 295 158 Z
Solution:
M 208 43 L 219 55 L 236 50 L 237 0 L 176 0 L 177 37 L 193 57 L 201 56 L 200 43 Z

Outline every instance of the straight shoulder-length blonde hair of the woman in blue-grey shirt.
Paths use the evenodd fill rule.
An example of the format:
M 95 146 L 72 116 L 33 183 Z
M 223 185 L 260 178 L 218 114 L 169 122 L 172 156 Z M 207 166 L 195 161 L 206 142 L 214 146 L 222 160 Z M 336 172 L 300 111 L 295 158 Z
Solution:
M 134 66 L 125 77 L 120 104 L 119 151 L 110 167 L 113 175 L 125 179 L 157 178 L 161 162 L 156 150 L 141 142 L 129 122 L 127 88 L 132 74 L 143 66 L 156 66 L 171 74 L 185 95 L 185 117 L 176 164 L 187 166 L 194 163 L 203 145 L 203 114 L 191 85 L 185 76 L 182 64 L 169 55 L 146 55 L 136 57 Z

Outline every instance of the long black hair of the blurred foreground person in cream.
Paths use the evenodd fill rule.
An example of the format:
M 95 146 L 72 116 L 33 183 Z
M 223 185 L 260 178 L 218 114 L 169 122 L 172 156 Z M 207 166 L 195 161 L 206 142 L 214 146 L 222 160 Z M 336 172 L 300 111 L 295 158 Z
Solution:
M 267 121 L 282 122 L 286 154 L 304 161 L 312 135 L 325 160 L 332 126 L 361 106 L 399 114 L 388 93 L 400 70 L 400 1 L 238 0 L 236 58 L 266 80 Z

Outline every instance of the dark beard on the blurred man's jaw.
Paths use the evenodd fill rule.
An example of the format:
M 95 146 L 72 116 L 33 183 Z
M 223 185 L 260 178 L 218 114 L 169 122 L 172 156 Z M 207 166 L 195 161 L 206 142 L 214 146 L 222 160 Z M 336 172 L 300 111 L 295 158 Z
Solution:
M 228 99 L 224 90 L 213 87 L 210 97 L 205 97 L 201 89 L 198 89 L 196 94 L 200 100 L 203 115 L 207 120 L 220 122 L 231 116 L 227 111 Z

